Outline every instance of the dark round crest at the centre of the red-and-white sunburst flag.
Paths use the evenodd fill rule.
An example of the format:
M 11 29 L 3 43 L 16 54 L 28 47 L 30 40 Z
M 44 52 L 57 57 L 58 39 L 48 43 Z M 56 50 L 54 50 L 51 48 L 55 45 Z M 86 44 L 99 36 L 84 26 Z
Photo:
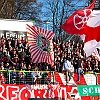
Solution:
M 42 35 L 39 35 L 36 40 L 37 47 L 44 51 L 44 52 L 50 52 L 50 42 Z

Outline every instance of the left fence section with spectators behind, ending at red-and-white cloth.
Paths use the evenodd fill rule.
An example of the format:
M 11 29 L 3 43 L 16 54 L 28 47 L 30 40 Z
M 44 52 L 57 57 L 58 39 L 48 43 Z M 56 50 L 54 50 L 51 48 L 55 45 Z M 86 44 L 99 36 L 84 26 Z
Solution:
M 0 70 L 1 84 L 48 84 L 53 71 Z M 54 82 L 53 82 L 54 83 Z

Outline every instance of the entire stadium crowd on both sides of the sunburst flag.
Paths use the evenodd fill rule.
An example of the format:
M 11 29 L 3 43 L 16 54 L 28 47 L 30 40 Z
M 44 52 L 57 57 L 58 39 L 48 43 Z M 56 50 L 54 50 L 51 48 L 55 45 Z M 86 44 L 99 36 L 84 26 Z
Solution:
M 100 72 L 100 61 L 94 56 L 86 58 L 83 50 L 84 43 L 75 43 L 74 41 L 54 42 L 54 66 L 43 63 L 32 63 L 29 52 L 29 44 L 23 38 L 4 38 L 0 39 L 0 80 L 1 83 L 9 83 L 7 80 L 10 70 L 10 83 L 18 84 L 39 84 L 46 83 L 48 80 L 47 71 L 64 72 L 64 62 L 69 60 L 77 73 L 80 67 L 82 72 Z M 78 65 L 77 61 L 80 60 Z M 6 72 L 7 71 L 7 72 Z M 26 72 L 24 72 L 26 71 Z M 44 73 L 32 71 L 45 71 Z M 20 80 L 20 81 L 19 81 Z

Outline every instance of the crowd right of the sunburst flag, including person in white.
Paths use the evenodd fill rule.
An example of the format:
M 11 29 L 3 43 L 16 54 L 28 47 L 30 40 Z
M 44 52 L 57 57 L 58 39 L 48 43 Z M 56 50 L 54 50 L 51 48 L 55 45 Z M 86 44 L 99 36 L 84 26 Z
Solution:
M 93 55 L 86 57 L 83 48 L 83 42 L 75 43 L 69 40 L 54 43 L 56 70 L 66 72 L 67 81 L 70 79 L 68 73 L 71 76 L 73 72 L 77 73 L 77 81 L 80 81 L 80 74 L 100 72 L 100 61 Z M 97 50 L 99 54 L 99 49 Z

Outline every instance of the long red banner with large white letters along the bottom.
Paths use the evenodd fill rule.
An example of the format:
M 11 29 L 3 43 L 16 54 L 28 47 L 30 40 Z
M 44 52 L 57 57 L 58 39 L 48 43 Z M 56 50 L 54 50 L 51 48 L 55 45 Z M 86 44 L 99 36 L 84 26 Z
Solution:
M 55 100 L 99 100 L 99 97 L 80 97 L 76 86 L 0 85 L 0 100 L 28 100 L 29 98 L 54 98 Z

